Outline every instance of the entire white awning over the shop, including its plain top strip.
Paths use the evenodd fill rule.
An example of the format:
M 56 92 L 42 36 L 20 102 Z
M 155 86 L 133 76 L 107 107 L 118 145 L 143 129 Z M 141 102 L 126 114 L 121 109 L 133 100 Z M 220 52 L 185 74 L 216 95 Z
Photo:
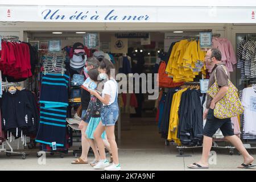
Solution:
M 34 2 L 34 3 L 33 3 Z M 3 1 L 0 21 L 10 22 L 119 22 L 119 23 L 256 23 L 254 1 L 148 1 L 119 5 L 118 1 L 81 3 L 61 1 Z M 107 4 L 113 6 L 103 6 Z M 120 1 L 119 1 L 120 2 Z M 185 3 L 184 3 L 185 2 Z M 193 2 L 193 3 L 192 3 Z M 19 5 L 23 3 L 23 5 Z M 122 2 L 123 3 L 123 2 Z M 181 5 L 183 3 L 183 5 Z M 65 5 L 65 6 L 64 6 Z M 114 6 L 115 5 L 115 6 Z

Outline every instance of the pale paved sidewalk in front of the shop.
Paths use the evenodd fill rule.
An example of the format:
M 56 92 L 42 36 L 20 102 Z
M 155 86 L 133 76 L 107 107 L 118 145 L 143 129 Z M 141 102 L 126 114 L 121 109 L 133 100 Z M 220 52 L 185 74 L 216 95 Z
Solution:
M 187 171 L 186 166 L 200 159 L 200 150 L 187 151 L 192 157 L 177 157 L 178 152 L 173 149 L 174 146 L 168 146 L 167 149 L 121 149 L 119 150 L 119 159 L 122 164 L 122 170 L 147 170 L 147 171 Z M 89 164 L 71 164 L 75 157 L 71 154 L 60 158 L 59 155 L 47 155 L 46 165 L 39 165 L 36 158 L 36 150 L 28 151 L 29 155 L 25 160 L 20 156 L 7 157 L 0 154 L 0 170 L 46 170 L 46 171 L 90 171 L 93 170 Z M 251 153 L 252 154 L 252 153 Z M 256 158 L 256 155 L 253 155 Z M 93 160 L 93 156 L 89 155 L 89 162 Z M 210 165 L 209 169 L 204 170 L 254 170 L 256 169 L 238 169 L 236 168 L 242 163 L 242 156 L 234 154 L 230 156 L 227 151 L 217 153 L 217 165 Z

